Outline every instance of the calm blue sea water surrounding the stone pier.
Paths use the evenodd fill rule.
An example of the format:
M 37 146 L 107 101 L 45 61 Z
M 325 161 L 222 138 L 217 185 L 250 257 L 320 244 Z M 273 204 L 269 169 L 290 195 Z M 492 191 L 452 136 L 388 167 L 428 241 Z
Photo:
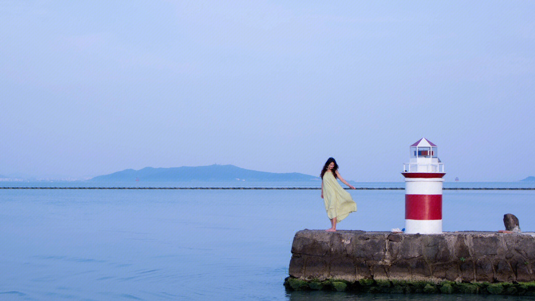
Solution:
M 402 188 L 403 182 L 355 187 Z M 318 188 L 320 182 L 0 182 L 0 187 Z M 535 182 L 445 182 L 535 188 Z M 348 190 L 338 229 L 404 227 L 404 190 Z M 0 189 L 0 300 L 533 300 L 289 291 L 296 231 L 330 227 L 319 190 Z M 444 190 L 444 231 L 535 231 L 535 190 Z

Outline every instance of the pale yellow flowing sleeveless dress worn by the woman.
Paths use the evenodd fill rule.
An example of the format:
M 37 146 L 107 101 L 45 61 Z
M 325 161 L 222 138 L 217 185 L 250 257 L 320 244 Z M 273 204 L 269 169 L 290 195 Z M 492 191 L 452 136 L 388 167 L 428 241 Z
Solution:
M 357 204 L 353 201 L 349 192 L 344 190 L 332 172 L 323 175 L 323 202 L 329 219 L 336 218 L 339 223 L 349 213 L 357 211 Z

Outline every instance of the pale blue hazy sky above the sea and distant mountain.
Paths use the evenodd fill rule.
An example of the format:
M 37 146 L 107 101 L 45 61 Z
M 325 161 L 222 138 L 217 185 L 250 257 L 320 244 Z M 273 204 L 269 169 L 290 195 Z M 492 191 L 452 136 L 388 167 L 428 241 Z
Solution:
M 535 175 L 533 1 L 0 0 L 0 174 Z

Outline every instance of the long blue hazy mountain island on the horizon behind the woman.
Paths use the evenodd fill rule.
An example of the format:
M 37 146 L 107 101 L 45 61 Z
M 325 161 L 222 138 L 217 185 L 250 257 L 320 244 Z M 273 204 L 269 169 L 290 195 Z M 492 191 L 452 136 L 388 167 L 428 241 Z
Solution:
M 130 182 L 138 178 L 143 182 L 302 182 L 318 180 L 317 176 L 301 173 L 269 173 L 244 169 L 234 165 L 182 166 L 171 168 L 145 167 L 139 171 L 124 171 L 95 176 L 92 182 Z

